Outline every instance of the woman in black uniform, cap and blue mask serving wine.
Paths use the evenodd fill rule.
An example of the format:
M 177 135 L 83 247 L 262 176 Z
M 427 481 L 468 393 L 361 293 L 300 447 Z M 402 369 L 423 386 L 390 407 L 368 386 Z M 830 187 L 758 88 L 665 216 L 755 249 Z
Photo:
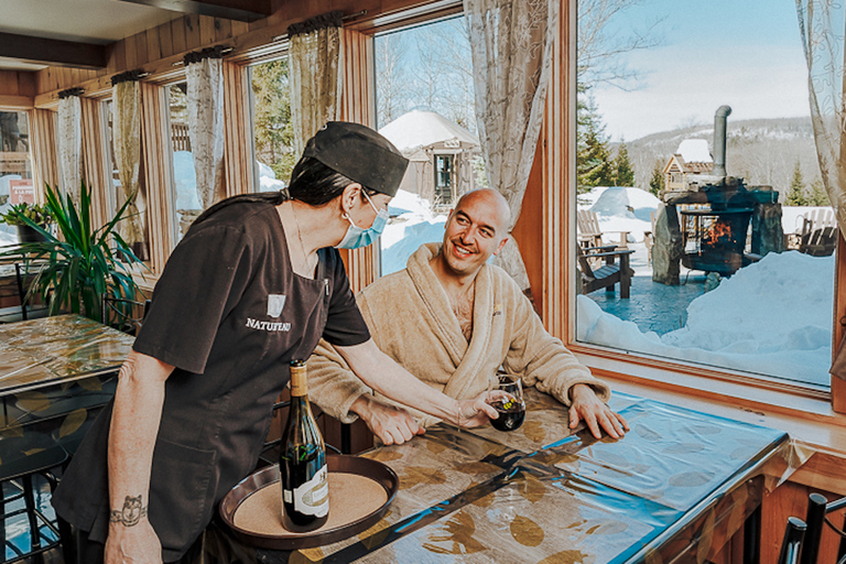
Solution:
M 488 394 L 453 400 L 376 347 L 332 248 L 379 236 L 406 165 L 375 131 L 329 122 L 288 191 L 229 198 L 194 223 L 156 284 L 113 402 L 54 496 L 80 531 L 80 562 L 104 552 L 107 563 L 178 561 L 254 467 L 289 361 L 321 337 L 399 402 L 464 426 L 496 417 Z

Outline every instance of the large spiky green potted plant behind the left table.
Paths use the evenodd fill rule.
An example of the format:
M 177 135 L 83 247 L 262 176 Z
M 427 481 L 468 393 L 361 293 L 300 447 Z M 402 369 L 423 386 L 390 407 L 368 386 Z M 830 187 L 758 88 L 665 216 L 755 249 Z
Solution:
M 102 296 L 108 294 L 134 300 L 138 284 L 132 279 L 132 267 L 143 264 L 130 246 L 115 229 L 127 217 L 127 199 L 105 226 L 93 228 L 91 193 L 83 182 L 77 206 L 68 195 L 65 200 L 46 186 L 46 210 L 57 226 L 54 236 L 29 216 L 24 225 L 43 238 L 21 241 L 0 252 L 0 258 L 26 257 L 42 265 L 37 269 L 26 293 L 41 296 L 50 305 L 50 315 L 65 308 L 95 321 L 102 319 Z

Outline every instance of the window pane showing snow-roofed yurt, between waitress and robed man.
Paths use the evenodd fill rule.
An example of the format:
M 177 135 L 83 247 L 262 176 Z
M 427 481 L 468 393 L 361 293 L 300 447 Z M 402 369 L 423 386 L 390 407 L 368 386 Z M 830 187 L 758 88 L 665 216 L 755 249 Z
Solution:
M 375 40 L 379 132 L 411 161 L 380 238 L 382 274 L 444 237 L 455 200 L 487 185 L 464 17 Z

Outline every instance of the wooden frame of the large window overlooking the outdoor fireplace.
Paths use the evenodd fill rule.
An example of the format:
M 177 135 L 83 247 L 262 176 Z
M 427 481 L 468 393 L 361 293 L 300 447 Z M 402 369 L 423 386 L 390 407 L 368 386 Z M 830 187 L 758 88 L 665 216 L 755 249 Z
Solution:
M 562 338 L 599 377 L 733 403 L 747 410 L 766 409 L 846 425 L 844 417 L 836 414 L 846 412 L 846 382 L 836 377 L 832 377 L 829 393 L 820 392 L 774 378 L 751 378 L 740 371 L 717 370 L 576 340 L 576 4 L 577 0 L 561 0 L 561 25 L 535 163 L 542 174 L 539 199 L 542 202 L 543 257 L 540 288 L 533 291 L 542 297 L 541 316 L 547 330 Z M 833 350 L 844 335 L 838 321 L 846 321 L 846 283 L 838 283 L 846 280 L 844 250 L 840 238 L 832 318 Z

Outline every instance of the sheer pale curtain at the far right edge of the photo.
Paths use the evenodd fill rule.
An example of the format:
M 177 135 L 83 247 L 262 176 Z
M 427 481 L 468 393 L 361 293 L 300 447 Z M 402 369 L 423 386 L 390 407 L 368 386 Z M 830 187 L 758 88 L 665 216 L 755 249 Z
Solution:
M 840 0 L 796 0 L 796 12 L 807 61 L 809 100 L 820 173 L 837 225 L 846 236 L 846 10 Z M 843 343 L 831 371 L 846 379 Z

